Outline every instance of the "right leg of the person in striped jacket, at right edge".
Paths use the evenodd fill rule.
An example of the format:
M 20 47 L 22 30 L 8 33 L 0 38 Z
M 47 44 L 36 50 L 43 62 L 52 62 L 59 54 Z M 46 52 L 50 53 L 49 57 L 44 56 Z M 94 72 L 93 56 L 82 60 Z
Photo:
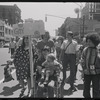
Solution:
M 92 76 L 93 98 L 99 98 L 100 97 L 99 79 L 100 79 L 100 75 L 93 75 Z

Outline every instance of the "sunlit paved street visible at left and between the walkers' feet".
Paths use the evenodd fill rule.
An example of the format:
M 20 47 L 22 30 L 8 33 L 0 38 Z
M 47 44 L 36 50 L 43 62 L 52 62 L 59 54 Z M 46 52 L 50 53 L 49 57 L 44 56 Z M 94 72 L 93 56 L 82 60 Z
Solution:
M 0 48 L 0 65 L 6 63 L 6 60 L 10 59 L 10 54 L 8 54 L 8 49 L 1 49 Z M 80 66 L 78 66 L 80 69 Z M 69 76 L 69 71 L 67 71 L 67 76 Z M 3 67 L 0 66 L 0 98 L 18 98 L 21 88 L 19 87 L 18 81 L 16 80 L 15 72 L 12 73 L 15 80 L 10 82 L 2 83 L 3 79 Z M 65 84 L 64 86 L 64 98 L 83 98 L 83 81 L 80 80 L 80 72 L 77 72 L 77 79 L 75 85 L 77 87 L 77 91 L 75 91 L 72 95 L 67 95 L 67 91 L 69 88 L 69 84 Z M 27 90 L 25 91 L 27 94 Z

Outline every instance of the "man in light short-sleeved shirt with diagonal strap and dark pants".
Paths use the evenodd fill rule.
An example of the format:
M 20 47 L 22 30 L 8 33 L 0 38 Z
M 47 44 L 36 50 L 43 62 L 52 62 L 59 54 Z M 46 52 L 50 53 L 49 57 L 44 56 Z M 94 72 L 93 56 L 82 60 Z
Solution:
M 61 55 L 60 61 L 62 61 L 63 65 L 63 81 L 62 81 L 62 89 L 64 86 L 64 81 L 66 79 L 66 69 L 68 65 L 70 66 L 70 88 L 69 94 L 75 90 L 74 87 L 74 77 L 76 70 L 76 51 L 77 51 L 77 42 L 73 40 L 73 33 L 68 31 L 66 33 L 67 39 L 63 41 L 61 45 Z

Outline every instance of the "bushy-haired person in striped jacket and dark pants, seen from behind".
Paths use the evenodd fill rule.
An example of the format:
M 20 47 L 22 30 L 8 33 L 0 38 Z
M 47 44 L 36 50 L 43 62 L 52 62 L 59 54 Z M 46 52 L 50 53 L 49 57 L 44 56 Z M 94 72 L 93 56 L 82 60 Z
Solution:
M 86 36 L 87 47 L 82 52 L 82 68 L 84 72 L 83 96 L 91 98 L 90 87 L 92 82 L 93 98 L 100 97 L 100 56 L 98 55 L 97 45 L 100 43 L 98 34 L 91 33 Z

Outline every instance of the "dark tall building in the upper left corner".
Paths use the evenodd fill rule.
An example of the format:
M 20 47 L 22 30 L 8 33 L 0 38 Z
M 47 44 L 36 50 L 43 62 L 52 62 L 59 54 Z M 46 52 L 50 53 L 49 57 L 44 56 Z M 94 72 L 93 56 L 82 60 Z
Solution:
M 21 20 L 21 10 L 16 4 L 12 5 L 0 5 L 0 19 L 8 23 L 9 25 L 16 24 Z

